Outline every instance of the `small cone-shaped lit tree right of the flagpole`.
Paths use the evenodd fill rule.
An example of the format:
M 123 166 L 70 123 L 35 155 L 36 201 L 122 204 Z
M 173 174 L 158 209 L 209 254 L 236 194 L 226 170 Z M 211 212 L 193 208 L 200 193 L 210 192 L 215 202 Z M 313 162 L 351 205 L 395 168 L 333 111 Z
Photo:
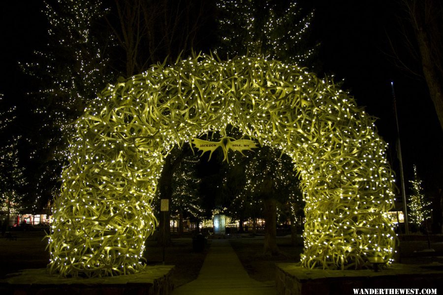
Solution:
M 414 165 L 414 179 L 411 182 L 411 198 L 408 204 L 409 217 L 411 223 L 418 228 L 423 226 L 423 223 L 430 218 L 432 209 L 430 209 L 431 202 L 426 200 L 423 192 L 422 180 L 417 175 L 417 167 Z

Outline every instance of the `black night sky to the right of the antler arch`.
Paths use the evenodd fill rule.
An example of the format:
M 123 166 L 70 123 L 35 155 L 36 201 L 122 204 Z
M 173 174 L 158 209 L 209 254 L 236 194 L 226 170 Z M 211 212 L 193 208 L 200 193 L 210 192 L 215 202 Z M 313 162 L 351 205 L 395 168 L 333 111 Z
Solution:
M 388 57 L 391 54 L 388 36 L 401 44 L 396 18 L 399 11 L 393 3 L 316 1 L 316 18 L 321 19 L 315 24 L 322 43 L 320 59 L 324 62 L 324 72 L 335 74 L 335 81 L 344 79 L 343 89 L 378 118 L 376 125 L 390 145 L 388 159 L 400 185 L 390 84 L 394 83 L 405 178 L 412 179 L 412 166 L 417 165 L 419 176 L 435 189 L 442 179 L 442 131 L 425 81 L 400 70 Z M 413 60 L 404 61 L 412 68 L 415 65 Z

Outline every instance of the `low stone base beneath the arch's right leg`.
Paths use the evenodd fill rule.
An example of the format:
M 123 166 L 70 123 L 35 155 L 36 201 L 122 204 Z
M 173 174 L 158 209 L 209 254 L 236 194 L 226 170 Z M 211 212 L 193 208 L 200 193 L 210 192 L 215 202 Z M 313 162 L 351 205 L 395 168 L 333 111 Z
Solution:
M 355 294 L 354 289 L 405 288 L 418 290 L 438 288 L 440 292 L 443 286 L 441 264 L 423 266 L 396 264 L 379 272 L 372 269 L 308 269 L 290 263 L 277 264 L 276 269 L 276 287 L 279 295 L 347 295 Z

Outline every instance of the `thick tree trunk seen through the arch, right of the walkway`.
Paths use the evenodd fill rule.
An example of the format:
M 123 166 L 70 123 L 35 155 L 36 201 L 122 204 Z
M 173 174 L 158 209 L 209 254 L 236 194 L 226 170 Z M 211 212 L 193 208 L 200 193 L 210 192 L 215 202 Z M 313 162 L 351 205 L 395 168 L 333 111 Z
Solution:
M 265 218 L 265 237 L 263 253 L 265 255 L 278 255 L 277 246 L 277 201 L 273 198 L 263 200 L 263 213 Z

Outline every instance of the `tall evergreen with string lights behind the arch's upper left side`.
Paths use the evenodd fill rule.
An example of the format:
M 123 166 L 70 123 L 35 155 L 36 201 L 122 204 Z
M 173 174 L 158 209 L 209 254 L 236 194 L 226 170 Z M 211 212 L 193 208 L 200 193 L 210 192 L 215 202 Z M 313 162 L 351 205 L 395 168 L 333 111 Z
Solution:
M 101 1 L 45 2 L 44 13 L 49 23 L 47 47 L 35 52 L 36 61 L 22 66 L 41 82 L 41 88 L 32 95 L 40 100 L 37 112 L 42 118 L 50 117 L 48 127 L 61 132 L 54 140 L 72 138 L 72 122 L 84 112 L 96 93 L 115 78 L 104 44 L 106 39 L 112 42 L 112 36 L 105 31 L 100 39 L 96 31 L 97 22 L 105 12 Z M 66 156 L 64 146 L 58 143 L 54 146 L 62 154 L 60 157 Z

